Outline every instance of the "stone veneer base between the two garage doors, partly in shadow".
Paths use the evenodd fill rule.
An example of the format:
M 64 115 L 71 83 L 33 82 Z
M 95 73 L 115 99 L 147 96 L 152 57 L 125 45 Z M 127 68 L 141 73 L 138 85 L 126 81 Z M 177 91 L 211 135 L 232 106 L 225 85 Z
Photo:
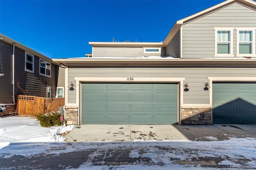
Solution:
M 211 107 L 182 107 L 182 125 L 212 125 Z

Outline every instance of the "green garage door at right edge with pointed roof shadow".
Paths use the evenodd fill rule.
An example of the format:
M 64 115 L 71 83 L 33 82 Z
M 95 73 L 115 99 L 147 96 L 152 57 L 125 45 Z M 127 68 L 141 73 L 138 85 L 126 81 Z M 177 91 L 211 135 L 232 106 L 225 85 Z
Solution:
M 256 123 L 256 83 L 213 83 L 213 123 Z

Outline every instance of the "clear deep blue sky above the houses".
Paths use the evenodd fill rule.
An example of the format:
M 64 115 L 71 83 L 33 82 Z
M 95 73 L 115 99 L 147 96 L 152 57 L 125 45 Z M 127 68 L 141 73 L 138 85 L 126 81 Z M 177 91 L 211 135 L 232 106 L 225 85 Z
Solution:
M 0 32 L 50 58 L 85 57 L 88 42 L 161 42 L 177 20 L 224 0 L 0 0 Z

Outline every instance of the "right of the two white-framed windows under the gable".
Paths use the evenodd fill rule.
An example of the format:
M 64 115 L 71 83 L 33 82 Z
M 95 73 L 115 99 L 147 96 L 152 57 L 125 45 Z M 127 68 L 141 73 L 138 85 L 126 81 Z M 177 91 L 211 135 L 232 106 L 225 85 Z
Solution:
M 254 29 L 255 30 L 255 29 Z M 255 32 L 248 28 L 237 28 L 237 56 L 255 55 Z

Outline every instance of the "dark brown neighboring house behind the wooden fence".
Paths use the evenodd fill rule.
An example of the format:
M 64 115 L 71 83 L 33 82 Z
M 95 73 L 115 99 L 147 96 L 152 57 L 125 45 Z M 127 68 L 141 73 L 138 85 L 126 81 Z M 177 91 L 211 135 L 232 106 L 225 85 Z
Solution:
M 52 59 L 0 34 L 0 61 L 0 106 L 6 114 L 16 113 L 17 95 L 64 97 L 64 68 Z

